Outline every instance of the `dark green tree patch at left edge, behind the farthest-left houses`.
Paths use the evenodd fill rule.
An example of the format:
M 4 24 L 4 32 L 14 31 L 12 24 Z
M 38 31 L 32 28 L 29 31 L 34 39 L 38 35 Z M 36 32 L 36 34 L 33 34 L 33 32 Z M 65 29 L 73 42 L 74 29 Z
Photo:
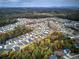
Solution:
M 8 25 L 8 24 L 16 23 L 16 22 L 17 20 L 14 18 L 0 16 L 0 27 Z

